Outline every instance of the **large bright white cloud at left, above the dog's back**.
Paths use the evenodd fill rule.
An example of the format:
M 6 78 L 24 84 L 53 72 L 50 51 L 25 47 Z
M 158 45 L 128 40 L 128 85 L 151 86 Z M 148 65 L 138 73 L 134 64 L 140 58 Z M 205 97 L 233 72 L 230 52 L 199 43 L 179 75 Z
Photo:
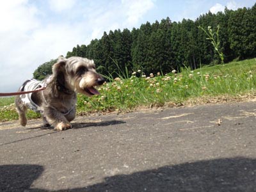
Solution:
M 65 55 L 84 41 L 78 23 L 40 20 L 40 11 L 28 1 L 6 1 L 0 7 L 0 92 L 14 92 L 42 63 Z

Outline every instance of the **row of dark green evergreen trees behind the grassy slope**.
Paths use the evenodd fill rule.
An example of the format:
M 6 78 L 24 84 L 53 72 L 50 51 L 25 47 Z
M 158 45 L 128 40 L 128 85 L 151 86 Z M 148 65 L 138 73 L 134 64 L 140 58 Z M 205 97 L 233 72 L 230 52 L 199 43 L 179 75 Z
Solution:
M 200 63 L 220 63 L 218 53 L 206 39 L 202 26 L 211 26 L 216 31 L 220 26 L 220 50 L 225 62 L 256 57 L 256 4 L 252 8 L 239 8 L 212 14 L 200 15 L 195 21 L 183 19 L 172 22 L 168 17 L 161 22 L 141 24 L 140 29 L 120 29 L 104 32 L 102 38 L 92 40 L 89 45 L 77 45 L 67 52 L 67 58 L 81 56 L 93 59 L 97 70 L 108 76 L 118 72 L 118 67 L 151 72 L 170 72 L 180 67 L 197 68 Z M 54 60 L 44 63 L 34 72 L 42 79 L 51 72 Z

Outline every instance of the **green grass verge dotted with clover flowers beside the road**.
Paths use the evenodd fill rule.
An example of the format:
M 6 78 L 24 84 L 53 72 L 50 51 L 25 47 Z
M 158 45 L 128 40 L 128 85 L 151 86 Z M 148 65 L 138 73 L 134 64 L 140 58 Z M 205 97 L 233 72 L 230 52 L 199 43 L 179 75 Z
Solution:
M 202 67 L 194 71 L 183 68 L 179 74 L 170 72 L 165 76 L 154 74 L 154 77 L 145 77 L 141 72 L 136 72 L 137 77 L 129 74 L 126 79 L 111 79 L 111 82 L 100 86 L 100 95 L 86 97 L 78 94 L 77 114 L 180 106 L 188 101 L 202 103 L 205 98 L 221 97 L 228 100 L 248 94 L 254 96 L 255 74 L 255 59 Z M 209 102 L 209 99 L 204 102 Z M 32 111 L 28 116 L 38 118 Z M 13 104 L 0 109 L 0 121 L 17 118 Z

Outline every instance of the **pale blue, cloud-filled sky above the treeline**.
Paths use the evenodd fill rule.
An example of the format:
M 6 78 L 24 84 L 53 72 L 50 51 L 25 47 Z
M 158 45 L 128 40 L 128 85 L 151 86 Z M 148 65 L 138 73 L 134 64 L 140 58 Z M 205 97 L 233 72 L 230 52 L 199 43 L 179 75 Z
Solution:
M 200 14 L 252 7 L 252 0 L 11 0 L 0 6 L 0 92 L 15 92 L 35 69 L 104 31 L 149 21 L 195 20 Z

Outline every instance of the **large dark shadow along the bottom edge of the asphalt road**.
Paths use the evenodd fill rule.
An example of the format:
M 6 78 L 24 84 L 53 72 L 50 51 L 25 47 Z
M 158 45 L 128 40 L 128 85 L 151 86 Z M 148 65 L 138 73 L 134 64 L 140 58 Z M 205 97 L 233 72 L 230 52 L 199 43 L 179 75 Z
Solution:
M 25 172 L 25 173 L 24 173 Z M 33 179 L 42 173 L 40 166 L 0 166 L 2 189 L 29 189 Z M 20 176 L 17 176 L 19 174 Z M 6 175 L 6 176 L 4 176 Z M 7 180 L 5 180 L 7 178 Z M 15 181 L 17 180 L 17 181 Z M 106 177 L 105 181 L 84 188 L 62 191 L 255 191 L 256 160 L 243 157 L 213 159 L 164 166 L 131 175 Z M 12 191 L 12 190 L 9 190 Z M 14 191 L 14 190 L 13 190 Z M 21 191 L 21 190 L 20 190 Z M 47 191 L 29 189 L 29 191 Z

